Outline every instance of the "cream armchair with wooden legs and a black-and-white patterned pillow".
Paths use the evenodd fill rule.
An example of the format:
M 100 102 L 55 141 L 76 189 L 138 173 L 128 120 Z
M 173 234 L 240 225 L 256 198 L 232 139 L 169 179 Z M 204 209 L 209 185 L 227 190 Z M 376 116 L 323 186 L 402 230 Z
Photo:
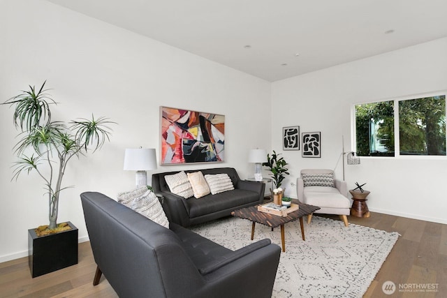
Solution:
M 333 186 L 330 186 L 331 177 Z M 301 170 L 297 179 L 298 200 L 305 204 L 320 207 L 318 214 L 337 214 L 347 227 L 351 211 L 351 201 L 347 198 L 346 182 L 334 178 L 334 171 L 325 169 Z M 307 216 L 307 223 L 312 221 L 312 214 Z

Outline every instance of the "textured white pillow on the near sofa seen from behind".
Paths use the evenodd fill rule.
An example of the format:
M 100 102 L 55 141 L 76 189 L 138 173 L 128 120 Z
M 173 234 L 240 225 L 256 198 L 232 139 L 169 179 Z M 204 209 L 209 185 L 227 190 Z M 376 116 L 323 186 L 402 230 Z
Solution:
M 118 202 L 146 216 L 151 221 L 169 228 L 169 221 L 165 211 L 163 211 L 163 207 L 161 207 L 159 198 L 156 197 L 153 191 L 147 189 L 147 186 L 119 193 Z

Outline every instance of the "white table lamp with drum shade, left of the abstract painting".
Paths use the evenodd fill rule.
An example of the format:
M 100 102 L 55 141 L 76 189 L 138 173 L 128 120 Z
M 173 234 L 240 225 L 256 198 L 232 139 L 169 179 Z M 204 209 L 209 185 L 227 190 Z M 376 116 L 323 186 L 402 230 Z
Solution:
M 155 149 L 138 148 L 126 149 L 124 153 L 124 170 L 137 171 L 135 174 L 136 186 L 147 185 L 148 170 L 156 169 Z

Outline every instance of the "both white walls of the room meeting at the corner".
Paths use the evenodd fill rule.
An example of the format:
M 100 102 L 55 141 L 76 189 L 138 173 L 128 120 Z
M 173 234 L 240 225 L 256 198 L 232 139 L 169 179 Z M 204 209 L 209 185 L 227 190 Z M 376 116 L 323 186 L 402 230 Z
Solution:
M 335 169 L 342 177 L 337 161 L 342 136 L 346 148 L 353 144 L 353 105 L 447 89 L 447 37 L 270 82 L 49 1 L 6 0 L 0 6 L 3 101 L 47 80 L 59 103 L 54 107 L 57 119 L 93 113 L 117 122 L 110 143 L 81 156 L 66 173 L 65 181 L 74 187 L 64 191 L 59 221 L 75 223 L 80 242 L 88 236 L 79 194 L 99 191 L 116 198 L 133 188 L 135 173 L 123 170 L 124 151 L 142 146 L 159 154 L 160 106 L 224 114 L 226 160 L 218 165 L 235 167 L 244 179 L 253 175 L 249 149 L 280 151 L 291 172 L 286 195 L 296 198 L 291 184 L 302 169 Z M 385 43 L 390 36 L 383 38 Z M 11 181 L 17 142 L 11 111 L 0 109 L 0 222 L 8 227 L 1 230 L 0 262 L 26 256 L 26 231 L 47 222 L 36 173 Z M 321 132 L 321 158 L 282 151 L 286 126 Z M 188 165 L 188 170 L 202 167 Z M 159 165 L 154 172 L 184 169 Z M 361 158 L 360 165 L 346 166 L 346 181 L 349 189 L 355 182 L 367 183 L 370 211 L 447 224 L 446 169 L 445 156 Z

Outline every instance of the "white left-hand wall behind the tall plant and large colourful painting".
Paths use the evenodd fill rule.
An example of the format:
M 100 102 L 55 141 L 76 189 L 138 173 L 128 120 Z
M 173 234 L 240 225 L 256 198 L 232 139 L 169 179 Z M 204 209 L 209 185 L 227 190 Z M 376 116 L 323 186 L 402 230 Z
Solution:
M 249 149 L 270 149 L 270 83 L 47 1 L 0 1 L 0 102 L 47 80 L 59 102 L 54 119 L 110 117 L 111 142 L 72 161 L 65 176 L 59 221 L 87 239 L 79 194 L 99 191 L 116 198 L 135 184 L 122 170 L 126 147 L 159 153 L 159 106 L 226 115 L 226 161 L 159 167 L 157 172 L 236 167 L 244 179 L 253 165 Z M 47 223 L 43 184 L 33 173 L 10 181 L 15 161 L 12 109 L 0 106 L 0 262 L 27 255 L 27 230 Z M 149 173 L 150 179 L 150 173 Z

